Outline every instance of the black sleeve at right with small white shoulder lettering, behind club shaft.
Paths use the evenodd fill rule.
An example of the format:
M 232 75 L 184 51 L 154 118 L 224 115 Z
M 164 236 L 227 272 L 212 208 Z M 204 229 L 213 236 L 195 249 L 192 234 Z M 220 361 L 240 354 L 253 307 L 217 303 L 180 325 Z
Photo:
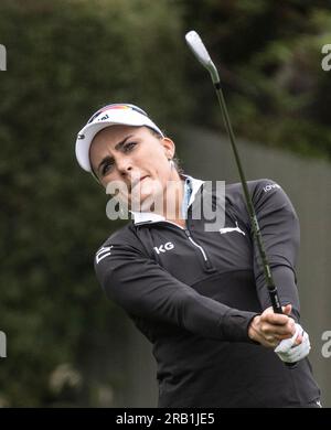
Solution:
M 289 197 L 274 181 L 259 181 L 252 190 L 252 198 L 280 303 L 291 303 L 291 316 L 299 321 L 300 304 L 295 271 L 300 244 L 298 216 Z M 257 293 L 263 309 L 266 309 L 271 303 L 256 245 L 254 254 Z

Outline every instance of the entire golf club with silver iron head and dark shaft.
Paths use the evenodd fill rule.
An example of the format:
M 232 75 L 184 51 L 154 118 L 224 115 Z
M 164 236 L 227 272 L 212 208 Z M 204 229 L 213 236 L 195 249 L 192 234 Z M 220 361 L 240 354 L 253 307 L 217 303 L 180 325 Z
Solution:
M 260 229 L 259 229 L 258 221 L 257 221 L 257 217 L 256 217 L 255 208 L 254 208 L 254 205 L 253 205 L 253 202 L 252 202 L 252 197 L 250 197 L 250 194 L 249 194 L 249 191 L 248 191 L 248 186 L 247 186 L 247 182 L 246 182 L 246 179 L 245 179 L 244 170 L 243 170 L 243 166 L 242 166 L 239 153 L 238 153 L 237 148 L 236 148 L 235 137 L 234 137 L 234 132 L 232 130 L 232 126 L 231 126 L 231 122 L 229 122 L 229 117 L 228 117 L 228 114 L 227 114 L 227 108 L 226 108 L 225 99 L 224 99 L 224 96 L 223 96 L 223 92 L 222 92 L 222 87 L 221 87 L 221 80 L 220 80 L 217 68 L 214 65 L 214 63 L 212 62 L 212 58 L 210 57 L 210 54 L 207 53 L 207 50 L 205 49 L 202 40 L 200 39 L 199 34 L 195 31 L 190 31 L 189 33 L 186 33 L 185 40 L 188 42 L 188 45 L 192 50 L 193 54 L 199 60 L 199 62 L 210 72 L 212 80 L 213 80 L 213 84 L 214 84 L 214 87 L 216 89 L 216 94 L 217 94 L 220 107 L 221 107 L 221 110 L 222 110 L 225 128 L 226 128 L 226 131 L 228 133 L 228 138 L 229 138 L 231 144 L 232 144 L 232 149 L 233 149 L 233 152 L 234 152 L 234 155 L 235 155 L 236 164 L 237 164 L 237 168 L 238 168 L 238 171 L 239 171 L 239 176 L 241 176 L 241 182 L 242 182 L 242 185 L 243 185 L 243 191 L 244 191 L 244 195 L 245 195 L 246 206 L 247 206 L 247 211 L 248 211 L 249 218 L 250 218 L 250 224 L 252 224 L 252 228 L 253 228 L 253 233 L 254 233 L 254 238 L 256 240 L 258 252 L 259 252 L 260 260 L 261 260 L 261 264 L 263 264 L 265 281 L 266 281 L 266 284 L 267 284 L 267 288 L 268 288 L 271 305 L 273 305 L 273 309 L 274 309 L 275 313 L 282 313 L 282 309 L 281 309 L 279 297 L 278 297 L 278 292 L 277 292 L 277 287 L 275 284 L 274 279 L 273 279 L 273 275 L 271 275 L 270 266 L 269 266 L 268 258 L 267 258 L 267 255 L 266 255 L 266 251 L 265 251 L 263 237 L 261 237 L 261 233 L 260 233 Z

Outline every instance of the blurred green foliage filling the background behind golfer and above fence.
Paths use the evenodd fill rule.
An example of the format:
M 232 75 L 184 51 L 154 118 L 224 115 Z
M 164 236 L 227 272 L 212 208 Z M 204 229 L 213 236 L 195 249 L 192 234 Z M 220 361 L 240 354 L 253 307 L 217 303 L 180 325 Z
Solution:
M 107 219 L 107 196 L 78 168 L 74 142 L 93 111 L 122 101 L 178 138 L 185 158 L 197 155 L 182 129 L 223 132 L 210 78 L 184 42 L 192 29 L 220 68 L 235 133 L 330 168 L 329 1 L 1 0 L 0 406 L 127 405 L 131 329 L 93 270 L 121 224 Z

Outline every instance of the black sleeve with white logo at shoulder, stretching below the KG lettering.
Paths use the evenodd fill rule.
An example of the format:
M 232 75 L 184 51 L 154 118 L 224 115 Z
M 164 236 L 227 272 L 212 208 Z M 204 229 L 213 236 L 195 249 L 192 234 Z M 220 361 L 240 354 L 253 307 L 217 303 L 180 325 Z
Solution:
M 247 331 L 256 313 L 199 294 L 129 244 L 115 240 L 103 247 L 95 270 L 107 297 L 129 314 L 175 324 L 204 337 L 252 342 Z

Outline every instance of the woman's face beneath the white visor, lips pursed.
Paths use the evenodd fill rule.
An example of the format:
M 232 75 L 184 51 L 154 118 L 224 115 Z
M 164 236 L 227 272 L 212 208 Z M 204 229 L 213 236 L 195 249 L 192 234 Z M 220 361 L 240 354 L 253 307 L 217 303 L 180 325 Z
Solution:
M 168 181 L 178 181 L 173 158 L 174 143 L 158 138 L 147 127 L 110 126 L 94 138 L 89 159 L 102 184 L 120 183 L 127 192 L 120 193 L 129 207 L 132 200 L 141 204 L 147 197 L 163 195 Z M 141 209 L 141 206 L 140 209 Z

